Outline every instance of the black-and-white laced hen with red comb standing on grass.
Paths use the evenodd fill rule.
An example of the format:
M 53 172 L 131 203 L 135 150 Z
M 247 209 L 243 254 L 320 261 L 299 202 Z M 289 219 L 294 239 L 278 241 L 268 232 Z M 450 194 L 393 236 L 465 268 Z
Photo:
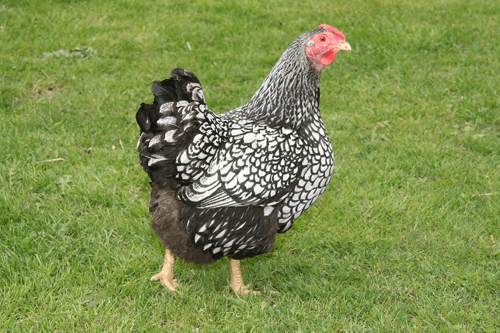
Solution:
M 334 173 L 320 75 L 350 49 L 341 31 L 320 25 L 295 39 L 247 104 L 222 115 L 208 110 L 191 71 L 152 84 L 154 101 L 136 115 L 152 228 L 166 248 L 152 281 L 176 292 L 174 255 L 196 264 L 227 256 L 229 287 L 250 292 L 239 260 L 269 252 Z

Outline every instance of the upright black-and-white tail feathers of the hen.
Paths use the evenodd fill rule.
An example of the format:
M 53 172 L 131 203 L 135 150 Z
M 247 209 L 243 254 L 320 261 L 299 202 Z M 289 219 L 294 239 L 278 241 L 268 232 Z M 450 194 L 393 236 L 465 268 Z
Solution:
M 171 78 L 152 84 L 152 93 L 152 104 L 141 104 L 136 114 L 141 128 L 137 144 L 141 166 L 159 184 L 169 181 L 167 178 L 189 183 L 176 175 L 176 160 L 210 113 L 199 80 L 191 71 L 174 69 Z

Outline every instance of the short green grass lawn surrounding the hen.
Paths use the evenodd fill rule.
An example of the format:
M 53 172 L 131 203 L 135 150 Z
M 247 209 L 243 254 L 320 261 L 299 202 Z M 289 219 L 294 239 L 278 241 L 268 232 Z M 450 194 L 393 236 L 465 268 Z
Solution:
M 499 17 L 487 0 L 3 1 L 0 332 L 499 332 Z M 336 173 L 242 264 L 279 293 L 238 299 L 225 259 L 176 262 L 183 295 L 150 282 L 164 250 L 135 113 L 152 80 L 190 69 L 229 111 L 322 23 L 352 45 L 321 80 Z M 99 55 L 43 55 L 78 45 Z

